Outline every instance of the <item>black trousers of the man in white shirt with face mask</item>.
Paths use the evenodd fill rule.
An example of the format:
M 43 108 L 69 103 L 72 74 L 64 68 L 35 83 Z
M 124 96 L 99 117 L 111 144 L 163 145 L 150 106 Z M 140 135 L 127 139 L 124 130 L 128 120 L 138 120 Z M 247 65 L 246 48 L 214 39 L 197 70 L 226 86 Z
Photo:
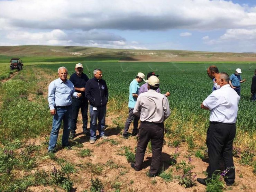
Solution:
M 218 122 L 211 122 L 208 130 L 206 143 L 209 153 L 209 173 L 212 174 L 219 170 L 220 157 L 223 156 L 225 169 L 229 169 L 226 175 L 226 182 L 234 183 L 235 181 L 235 167 L 233 162 L 233 140 L 236 136 L 236 124 L 224 124 Z M 217 174 L 215 172 L 214 174 Z

